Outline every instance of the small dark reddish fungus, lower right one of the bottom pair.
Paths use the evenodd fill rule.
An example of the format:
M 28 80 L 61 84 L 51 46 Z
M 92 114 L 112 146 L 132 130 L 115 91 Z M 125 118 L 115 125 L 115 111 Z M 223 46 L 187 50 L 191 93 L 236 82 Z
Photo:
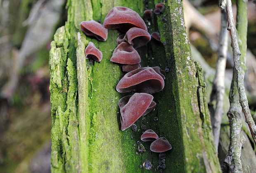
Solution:
M 156 153 L 166 152 L 170 149 L 171 149 L 171 144 L 165 137 L 159 137 L 150 145 L 150 150 Z

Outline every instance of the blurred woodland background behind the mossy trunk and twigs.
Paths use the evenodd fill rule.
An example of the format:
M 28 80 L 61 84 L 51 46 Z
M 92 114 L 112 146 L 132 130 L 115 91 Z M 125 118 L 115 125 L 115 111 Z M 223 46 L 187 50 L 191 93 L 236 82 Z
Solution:
M 220 30 L 218 0 L 183 0 L 183 8 L 193 58 L 201 64 L 210 86 Z M 235 5 L 233 11 L 235 15 Z M 66 0 L 0 0 L 0 172 L 50 172 L 48 60 L 50 42 L 56 29 L 65 24 L 66 12 Z M 255 56 L 256 5 L 249 1 L 245 86 L 256 120 Z M 229 48 L 227 94 L 232 66 Z M 211 87 L 207 92 L 209 96 Z

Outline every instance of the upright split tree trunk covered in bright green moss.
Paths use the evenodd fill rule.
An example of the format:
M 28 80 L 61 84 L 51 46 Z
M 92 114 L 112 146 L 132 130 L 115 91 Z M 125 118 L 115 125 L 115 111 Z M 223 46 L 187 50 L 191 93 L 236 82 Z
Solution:
M 97 42 L 79 29 L 83 20 L 103 21 L 113 6 L 129 7 L 142 16 L 145 7 L 153 9 L 157 2 L 68 0 L 68 21 L 56 31 L 50 50 L 52 172 L 144 172 L 140 165 L 146 159 L 155 171 L 158 154 L 149 151 L 149 143 L 142 143 L 145 153 L 135 154 L 142 125 L 171 143 L 166 172 L 220 172 L 204 78 L 191 57 L 181 1 L 167 0 L 164 13 L 146 22 L 149 33 L 159 31 L 161 42 L 166 44 L 152 40 L 138 49 L 142 66 L 168 66 L 170 72 L 163 92 L 154 94 L 154 111 L 135 123 L 137 132 L 120 130 L 118 101 L 124 94 L 115 87 L 124 73 L 109 61 L 119 31 L 109 30 L 107 41 Z M 100 63 L 85 61 L 88 41 L 102 51 Z

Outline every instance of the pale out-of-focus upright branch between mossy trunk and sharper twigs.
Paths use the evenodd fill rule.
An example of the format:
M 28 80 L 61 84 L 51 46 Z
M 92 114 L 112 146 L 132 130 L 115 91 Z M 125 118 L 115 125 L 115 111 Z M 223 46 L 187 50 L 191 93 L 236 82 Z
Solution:
M 216 73 L 213 80 L 213 88 L 211 92 L 210 102 L 216 101 L 216 109 L 211 115 L 211 124 L 213 126 L 213 136 L 216 148 L 220 140 L 220 123 L 223 114 L 223 95 L 225 92 L 225 68 L 228 51 L 228 31 L 227 18 L 225 10 L 221 13 L 221 28 L 219 36 L 218 60 L 216 64 Z

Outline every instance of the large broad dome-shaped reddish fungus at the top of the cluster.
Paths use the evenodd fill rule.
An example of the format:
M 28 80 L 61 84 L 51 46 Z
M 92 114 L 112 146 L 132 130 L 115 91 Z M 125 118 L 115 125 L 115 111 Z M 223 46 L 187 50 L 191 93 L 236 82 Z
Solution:
M 136 26 L 147 31 L 147 26 L 140 15 L 127 7 L 113 7 L 104 19 L 103 26 L 107 29 L 119 28 L 124 32 Z

